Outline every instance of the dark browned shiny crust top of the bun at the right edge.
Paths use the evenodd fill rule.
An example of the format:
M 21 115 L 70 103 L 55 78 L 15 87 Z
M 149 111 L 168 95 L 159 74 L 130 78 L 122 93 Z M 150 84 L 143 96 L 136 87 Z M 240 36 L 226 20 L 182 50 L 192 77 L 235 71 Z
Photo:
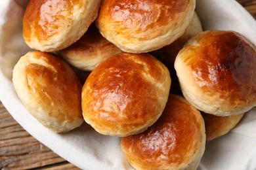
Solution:
M 191 65 L 196 83 L 211 88 L 212 93 L 232 89 L 230 97 L 247 99 L 251 90 L 256 90 L 255 46 L 232 31 L 211 31 L 197 40 L 202 48 L 188 47 L 196 56 L 185 61 Z

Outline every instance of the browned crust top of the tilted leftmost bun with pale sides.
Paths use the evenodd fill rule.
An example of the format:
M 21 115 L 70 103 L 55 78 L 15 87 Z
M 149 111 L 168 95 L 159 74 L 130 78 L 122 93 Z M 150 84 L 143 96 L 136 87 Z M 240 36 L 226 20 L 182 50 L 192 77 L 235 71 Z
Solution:
M 56 105 L 56 107 L 62 108 L 63 110 L 70 108 L 81 110 L 79 104 L 81 83 L 74 71 L 71 71 L 70 67 L 64 61 L 61 61 L 60 58 L 54 56 L 54 54 L 37 51 L 33 52 L 33 57 L 40 59 L 48 65 L 48 67 L 45 67 L 46 65 L 30 63 L 25 69 L 28 84 L 31 85 L 29 90 L 34 95 L 38 95 L 39 102 L 42 104 L 41 107 L 47 110 L 50 109 L 49 105 Z M 67 77 L 69 78 L 68 83 Z M 60 112 L 51 113 L 60 114 Z M 64 119 L 72 122 L 75 118 L 73 114 L 52 116 L 56 116 L 59 122 L 62 122 Z

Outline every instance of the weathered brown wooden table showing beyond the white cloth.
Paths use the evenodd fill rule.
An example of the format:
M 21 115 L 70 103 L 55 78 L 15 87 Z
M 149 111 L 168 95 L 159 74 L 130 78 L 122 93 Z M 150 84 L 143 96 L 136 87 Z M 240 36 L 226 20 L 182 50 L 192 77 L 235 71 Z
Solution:
M 256 19 L 256 0 L 238 0 Z M 78 169 L 39 143 L 0 101 L 0 169 Z

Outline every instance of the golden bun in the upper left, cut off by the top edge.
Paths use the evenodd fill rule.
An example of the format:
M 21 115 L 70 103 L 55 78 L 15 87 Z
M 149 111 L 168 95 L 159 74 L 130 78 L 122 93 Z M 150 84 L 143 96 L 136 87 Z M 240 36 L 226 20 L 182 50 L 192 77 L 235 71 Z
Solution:
M 98 16 L 100 0 L 30 1 L 23 19 L 23 37 L 33 49 L 61 50 L 80 39 Z

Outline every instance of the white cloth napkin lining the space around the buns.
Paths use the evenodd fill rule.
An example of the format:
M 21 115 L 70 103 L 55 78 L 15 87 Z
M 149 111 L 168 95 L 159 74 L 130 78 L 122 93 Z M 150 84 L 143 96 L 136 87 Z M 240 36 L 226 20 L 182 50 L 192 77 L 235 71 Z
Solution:
M 15 120 L 38 141 L 81 169 L 132 169 L 120 138 L 96 133 L 89 125 L 59 135 L 41 126 L 24 108 L 12 87 L 12 69 L 30 48 L 22 38 L 28 0 L 0 1 L 0 99 Z M 198 0 L 203 28 L 234 30 L 256 44 L 255 20 L 234 0 Z M 200 170 L 256 169 L 256 108 L 228 135 L 207 142 Z

